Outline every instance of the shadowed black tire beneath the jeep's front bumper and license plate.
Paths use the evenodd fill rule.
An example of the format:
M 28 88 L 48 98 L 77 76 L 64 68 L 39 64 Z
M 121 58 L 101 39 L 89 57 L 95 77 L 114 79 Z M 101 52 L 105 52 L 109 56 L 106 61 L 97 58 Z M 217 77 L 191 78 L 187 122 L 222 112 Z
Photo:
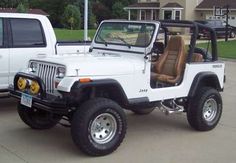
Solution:
M 61 120 L 60 115 L 53 115 L 44 110 L 28 108 L 21 104 L 18 104 L 17 110 L 21 120 L 32 129 L 49 129 Z

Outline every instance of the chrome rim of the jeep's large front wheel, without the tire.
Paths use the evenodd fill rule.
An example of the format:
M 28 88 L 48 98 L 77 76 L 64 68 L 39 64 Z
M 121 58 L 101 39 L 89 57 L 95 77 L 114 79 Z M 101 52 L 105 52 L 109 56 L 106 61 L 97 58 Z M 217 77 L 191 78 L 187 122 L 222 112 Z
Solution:
M 113 139 L 117 130 L 117 122 L 115 117 L 110 113 L 98 115 L 92 122 L 90 134 L 98 144 L 108 143 Z

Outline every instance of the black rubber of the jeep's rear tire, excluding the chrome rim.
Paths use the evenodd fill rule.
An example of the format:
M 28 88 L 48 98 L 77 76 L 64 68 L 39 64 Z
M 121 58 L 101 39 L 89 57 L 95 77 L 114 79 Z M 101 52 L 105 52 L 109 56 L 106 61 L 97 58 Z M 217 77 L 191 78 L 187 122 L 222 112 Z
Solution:
M 211 121 L 206 121 L 203 117 L 204 103 L 214 99 L 217 104 L 216 115 Z M 218 124 L 222 114 L 222 99 L 220 93 L 211 87 L 202 87 L 199 92 L 190 99 L 187 109 L 187 119 L 192 128 L 199 131 L 209 131 Z

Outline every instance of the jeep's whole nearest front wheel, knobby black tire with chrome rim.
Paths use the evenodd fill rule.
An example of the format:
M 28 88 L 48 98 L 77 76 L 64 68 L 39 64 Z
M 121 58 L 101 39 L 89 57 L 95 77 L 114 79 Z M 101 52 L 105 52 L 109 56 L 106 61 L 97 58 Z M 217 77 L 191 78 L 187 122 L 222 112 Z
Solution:
M 103 156 L 116 150 L 126 134 L 126 117 L 114 101 L 95 98 L 85 102 L 73 115 L 71 135 L 84 153 Z

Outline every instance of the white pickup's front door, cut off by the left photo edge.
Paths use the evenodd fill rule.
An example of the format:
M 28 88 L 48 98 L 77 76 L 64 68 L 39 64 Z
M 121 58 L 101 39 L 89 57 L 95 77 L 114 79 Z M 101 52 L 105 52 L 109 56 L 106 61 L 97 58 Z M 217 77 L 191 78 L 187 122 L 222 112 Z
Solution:
M 9 49 L 6 46 L 3 18 L 0 18 L 0 91 L 8 88 Z

